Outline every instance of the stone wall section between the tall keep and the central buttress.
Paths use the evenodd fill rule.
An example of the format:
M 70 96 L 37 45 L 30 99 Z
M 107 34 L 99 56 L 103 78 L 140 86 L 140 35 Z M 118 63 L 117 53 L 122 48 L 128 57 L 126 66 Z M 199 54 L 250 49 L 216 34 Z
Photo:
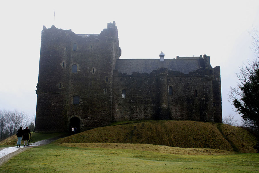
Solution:
M 157 109 L 154 75 L 113 72 L 113 121 L 155 119 Z M 126 97 L 122 98 L 122 90 Z

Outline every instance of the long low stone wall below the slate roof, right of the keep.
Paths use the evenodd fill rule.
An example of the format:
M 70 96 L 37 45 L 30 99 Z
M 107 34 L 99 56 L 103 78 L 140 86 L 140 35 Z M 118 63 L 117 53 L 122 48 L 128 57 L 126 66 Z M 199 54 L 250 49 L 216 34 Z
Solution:
M 173 119 L 213 122 L 213 70 L 197 70 L 189 74 L 166 71 L 162 68 L 151 74 L 127 75 L 114 70 L 112 121 Z M 168 94 L 170 86 L 172 95 Z M 122 98 L 123 89 L 126 98 Z

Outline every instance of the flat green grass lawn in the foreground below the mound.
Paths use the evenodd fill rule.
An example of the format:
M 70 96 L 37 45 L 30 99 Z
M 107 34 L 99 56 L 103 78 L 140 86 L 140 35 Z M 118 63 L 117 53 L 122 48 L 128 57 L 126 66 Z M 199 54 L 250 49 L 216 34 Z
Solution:
M 0 167 L 0 172 L 259 172 L 256 153 L 186 155 L 182 151 L 176 155 L 145 151 L 142 144 L 131 145 L 139 145 L 142 150 L 47 144 L 13 157 Z

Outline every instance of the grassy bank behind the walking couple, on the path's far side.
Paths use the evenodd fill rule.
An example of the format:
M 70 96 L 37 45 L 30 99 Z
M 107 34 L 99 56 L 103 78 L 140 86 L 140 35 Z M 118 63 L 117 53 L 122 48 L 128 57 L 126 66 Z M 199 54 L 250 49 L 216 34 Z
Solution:
M 30 144 L 33 142 L 37 142 L 40 140 L 44 140 L 44 139 L 49 139 L 49 138 L 54 138 L 57 136 L 68 136 L 67 133 L 33 133 L 31 132 L 31 141 Z M 13 135 L 9 138 L 6 138 L 5 140 L 2 140 L 0 142 L 0 146 L 5 146 L 5 145 L 16 145 L 17 143 L 17 136 Z M 22 145 L 23 145 L 23 141 L 22 141 Z

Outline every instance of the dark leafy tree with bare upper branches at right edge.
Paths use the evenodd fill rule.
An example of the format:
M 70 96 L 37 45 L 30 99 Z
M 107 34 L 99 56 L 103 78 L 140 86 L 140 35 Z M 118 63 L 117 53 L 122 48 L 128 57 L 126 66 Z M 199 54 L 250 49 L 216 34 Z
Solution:
M 254 39 L 254 52 L 259 55 L 258 31 L 251 35 Z M 229 98 L 232 104 L 241 114 L 245 126 L 253 129 L 259 134 L 259 58 L 248 62 L 240 67 L 240 72 L 236 74 L 239 82 L 237 87 L 231 88 Z

